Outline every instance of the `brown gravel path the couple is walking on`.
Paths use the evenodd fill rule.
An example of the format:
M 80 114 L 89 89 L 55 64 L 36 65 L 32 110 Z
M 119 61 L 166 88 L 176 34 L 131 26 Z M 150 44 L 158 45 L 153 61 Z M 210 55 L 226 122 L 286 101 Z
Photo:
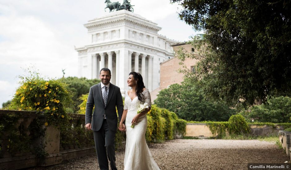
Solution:
M 161 170 L 247 169 L 247 163 L 284 163 L 290 157 L 275 143 L 258 140 L 175 139 L 150 144 L 150 151 Z M 124 151 L 116 152 L 116 164 L 123 170 Z M 64 161 L 50 167 L 29 170 L 98 170 L 95 155 Z

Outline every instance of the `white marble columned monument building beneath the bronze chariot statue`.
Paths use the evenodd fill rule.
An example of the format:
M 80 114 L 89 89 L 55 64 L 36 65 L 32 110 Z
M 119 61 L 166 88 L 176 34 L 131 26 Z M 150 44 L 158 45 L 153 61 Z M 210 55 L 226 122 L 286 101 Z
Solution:
M 121 93 L 129 89 L 128 74 L 141 73 L 149 91 L 159 87 L 160 63 L 174 57 L 170 45 L 177 43 L 159 35 L 161 30 L 135 13 L 120 10 L 88 21 L 89 44 L 77 47 L 78 76 L 99 78 L 103 67 L 111 70 L 111 83 L 120 87 Z

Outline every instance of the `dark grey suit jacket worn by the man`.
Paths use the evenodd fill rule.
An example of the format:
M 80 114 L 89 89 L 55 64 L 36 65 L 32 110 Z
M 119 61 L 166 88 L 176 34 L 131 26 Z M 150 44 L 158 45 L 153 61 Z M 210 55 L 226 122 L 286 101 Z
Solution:
M 92 116 L 94 105 L 95 109 Z M 89 96 L 86 103 L 85 124 L 91 123 L 91 129 L 98 131 L 102 126 L 105 114 L 110 130 L 116 131 L 117 114 L 115 106 L 117 107 L 120 120 L 123 113 L 123 101 L 119 87 L 110 83 L 106 106 L 103 102 L 101 83 L 90 87 Z

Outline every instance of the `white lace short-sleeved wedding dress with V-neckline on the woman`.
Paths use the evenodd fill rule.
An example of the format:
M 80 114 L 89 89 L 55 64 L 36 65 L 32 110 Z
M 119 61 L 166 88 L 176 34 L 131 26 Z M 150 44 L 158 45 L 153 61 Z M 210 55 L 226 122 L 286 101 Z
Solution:
M 150 92 L 145 89 L 142 94 L 142 101 L 151 106 Z M 134 128 L 130 127 L 132 118 L 137 115 L 137 109 L 140 107 L 140 104 L 141 101 L 137 97 L 131 100 L 128 92 L 125 93 L 124 109 L 128 111 L 125 120 L 126 146 L 124 170 L 159 170 L 160 168 L 154 161 L 149 147 L 145 142 L 145 131 L 147 127 L 146 115 L 139 118 Z

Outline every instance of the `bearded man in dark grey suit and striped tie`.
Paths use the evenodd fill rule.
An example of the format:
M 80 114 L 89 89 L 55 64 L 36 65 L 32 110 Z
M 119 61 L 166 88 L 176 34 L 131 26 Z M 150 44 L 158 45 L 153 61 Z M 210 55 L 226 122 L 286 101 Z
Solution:
M 109 159 L 111 169 L 117 170 L 114 147 L 117 130 L 115 106 L 120 120 L 123 112 L 123 101 L 119 87 L 110 83 L 111 71 L 108 68 L 100 70 L 99 78 L 101 82 L 90 87 L 86 104 L 85 126 L 88 130 L 93 130 L 100 169 L 109 170 Z M 92 116 L 94 105 L 95 109 Z

